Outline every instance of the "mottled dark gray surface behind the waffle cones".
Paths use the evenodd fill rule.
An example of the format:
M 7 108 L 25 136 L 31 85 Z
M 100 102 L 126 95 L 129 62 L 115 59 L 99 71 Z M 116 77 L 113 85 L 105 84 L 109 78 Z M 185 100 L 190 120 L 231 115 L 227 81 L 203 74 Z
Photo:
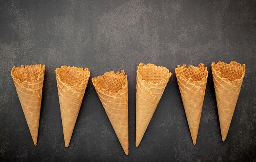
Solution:
M 256 1 L 1 0 L 0 161 L 256 161 Z M 211 62 L 238 61 L 246 73 L 222 142 Z M 138 148 L 136 70 L 140 62 L 173 75 Z M 45 64 L 38 146 L 34 146 L 11 68 Z M 209 70 L 197 143 L 191 140 L 174 69 Z M 126 156 L 90 79 L 65 148 L 54 70 L 88 67 L 91 78 L 125 70 L 129 95 Z

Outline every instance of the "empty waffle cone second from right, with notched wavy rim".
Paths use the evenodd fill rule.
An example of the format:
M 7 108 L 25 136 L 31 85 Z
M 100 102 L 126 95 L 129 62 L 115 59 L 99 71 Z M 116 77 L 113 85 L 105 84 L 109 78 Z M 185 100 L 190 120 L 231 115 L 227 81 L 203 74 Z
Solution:
M 204 64 L 194 66 L 178 65 L 175 68 L 177 82 L 180 88 L 186 118 L 189 123 L 193 144 L 196 143 L 198 128 L 204 103 L 204 93 L 207 83 L 208 71 Z

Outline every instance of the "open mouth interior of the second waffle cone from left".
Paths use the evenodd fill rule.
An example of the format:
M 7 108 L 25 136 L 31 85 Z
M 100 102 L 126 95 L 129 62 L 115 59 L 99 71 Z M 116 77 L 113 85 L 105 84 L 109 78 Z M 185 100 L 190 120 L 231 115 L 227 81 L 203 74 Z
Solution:
M 90 76 L 88 68 L 83 70 L 83 68 L 76 68 L 74 66 L 61 66 L 61 68 L 56 68 L 56 74 L 59 76 L 60 80 L 68 86 L 81 84 Z

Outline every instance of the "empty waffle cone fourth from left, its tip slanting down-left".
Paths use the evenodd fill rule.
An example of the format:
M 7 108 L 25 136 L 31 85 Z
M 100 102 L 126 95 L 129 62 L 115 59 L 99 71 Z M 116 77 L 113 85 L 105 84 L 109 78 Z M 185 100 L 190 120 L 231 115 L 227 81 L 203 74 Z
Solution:
M 157 104 L 171 77 L 171 72 L 165 67 L 154 64 L 140 63 L 137 70 L 136 93 L 136 147 L 148 127 Z

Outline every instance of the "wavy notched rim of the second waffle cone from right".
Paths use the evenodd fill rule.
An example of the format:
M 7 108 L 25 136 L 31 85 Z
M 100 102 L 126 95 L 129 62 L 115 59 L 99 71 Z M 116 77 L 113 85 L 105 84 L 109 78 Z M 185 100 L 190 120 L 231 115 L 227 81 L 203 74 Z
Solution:
M 207 78 L 208 78 L 208 70 L 207 70 L 207 66 L 204 66 L 204 68 L 206 69 L 206 77 L 203 77 L 200 81 L 194 81 L 191 77 L 188 77 L 188 78 L 185 78 L 183 75 L 180 75 L 180 74 L 177 74 L 178 70 L 180 69 L 184 69 L 184 68 L 198 68 L 200 65 L 203 65 L 204 66 L 204 63 L 199 63 L 197 67 L 193 66 L 193 65 L 189 65 L 188 67 L 186 67 L 186 64 L 183 64 L 182 66 L 178 65 L 177 68 L 175 68 L 175 74 L 176 74 L 176 77 L 177 78 L 180 78 L 180 79 L 184 79 L 186 81 L 189 81 L 190 83 L 204 83 L 205 81 L 207 81 Z

